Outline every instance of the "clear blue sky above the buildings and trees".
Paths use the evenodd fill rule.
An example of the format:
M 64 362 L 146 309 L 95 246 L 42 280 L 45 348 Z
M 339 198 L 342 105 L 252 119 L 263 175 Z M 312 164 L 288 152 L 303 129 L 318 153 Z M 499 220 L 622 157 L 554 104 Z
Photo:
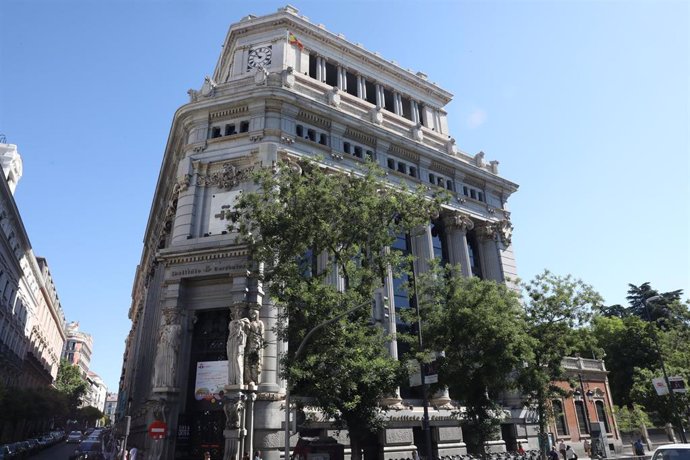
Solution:
M 230 24 L 285 2 L 0 2 L 0 133 L 68 320 L 117 391 L 127 312 L 175 110 Z M 301 14 L 455 95 L 460 149 L 520 184 L 518 271 L 625 303 L 689 283 L 690 2 L 298 1 Z

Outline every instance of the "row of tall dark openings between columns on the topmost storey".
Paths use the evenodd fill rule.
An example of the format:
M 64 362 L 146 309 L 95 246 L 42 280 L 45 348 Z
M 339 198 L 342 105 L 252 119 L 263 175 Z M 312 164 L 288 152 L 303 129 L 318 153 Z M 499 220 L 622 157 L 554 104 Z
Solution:
M 317 56 L 315 53 L 309 54 L 309 76 L 314 79 L 320 79 L 327 85 L 337 86 L 339 89 L 351 94 L 355 97 L 366 100 L 367 102 L 377 105 L 376 100 L 376 84 L 366 77 L 362 77 L 363 87 L 360 88 L 357 81 L 357 75 L 344 69 L 344 78 L 341 78 L 341 82 L 338 82 L 338 72 L 340 67 L 337 64 L 329 62 L 325 58 L 321 58 L 325 61 L 325 75 L 319 75 L 317 70 Z M 417 103 L 417 109 L 415 110 L 412 100 L 406 96 L 400 94 L 400 109 L 395 110 L 395 98 L 396 93 L 386 87 L 381 86 L 383 90 L 383 98 L 378 103 L 381 107 L 389 112 L 397 113 L 397 115 L 407 118 L 408 120 L 420 123 L 422 126 L 426 126 L 424 120 L 424 110 L 423 105 Z M 415 113 L 413 114 L 413 111 Z M 415 117 L 417 120 L 415 120 Z

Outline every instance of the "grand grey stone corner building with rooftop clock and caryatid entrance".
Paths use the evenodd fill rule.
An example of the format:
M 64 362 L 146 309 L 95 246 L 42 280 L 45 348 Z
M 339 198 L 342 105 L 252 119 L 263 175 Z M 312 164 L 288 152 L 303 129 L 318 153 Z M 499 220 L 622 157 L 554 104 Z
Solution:
M 284 450 L 278 357 L 285 345 L 273 332 L 275 308 L 225 220 L 237 196 L 252 190 L 249 172 L 300 157 L 340 169 L 371 158 L 392 184 L 446 189 L 453 199 L 443 215 L 396 248 L 415 254 L 419 271 L 440 257 L 466 276 L 506 283 L 516 277 L 506 202 L 517 185 L 499 176 L 497 161 L 457 148 L 444 110 L 450 93 L 292 7 L 242 19 L 222 49 L 213 75 L 189 91 L 173 119 L 134 280 L 118 417 L 132 417 L 130 439 L 153 456 L 202 458 L 209 450 L 227 459 L 260 450 L 277 460 Z M 391 332 L 395 310 L 409 302 L 399 281 L 389 276 L 381 293 L 395 308 L 372 312 Z M 229 337 L 231 306 L 237 316 Z M 248 359 L 258 330 L 265 346 L 252 363 L 260 373 L 246 365 L 243 371 L 237 350 Z M 390 351 L 397 356 L 395 342 Z M 237 395 L 233 405 L 230 394 Z M 411 457 L 423 443 L 421 401 L 401 397 L 389 427 L 372 441 L 370 452 L 380 458 Z M 450 398 L 438 394 L 432 404 L 434 452 L 464 452 Z M 154 419 L 169 426 L 163 441 L 146 438 Z M 321 429 L 335 435 L 327 423 Z M 339 436 L 347 445 L 346 434 Z

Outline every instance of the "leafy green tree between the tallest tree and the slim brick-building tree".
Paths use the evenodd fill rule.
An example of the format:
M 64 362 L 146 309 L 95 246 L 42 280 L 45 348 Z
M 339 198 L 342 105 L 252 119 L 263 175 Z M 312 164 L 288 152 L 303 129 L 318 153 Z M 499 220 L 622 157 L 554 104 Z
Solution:
M 436 267 L 419 278 L 424 343 L 444 351 L 439 383 L 466 408 L 465 442 L 484 457 L 501 420 L 495 396 L 514 388 L 515 369 L 531 360 L 524 311 L 505 285 L 465 278 L 457 266 Z

